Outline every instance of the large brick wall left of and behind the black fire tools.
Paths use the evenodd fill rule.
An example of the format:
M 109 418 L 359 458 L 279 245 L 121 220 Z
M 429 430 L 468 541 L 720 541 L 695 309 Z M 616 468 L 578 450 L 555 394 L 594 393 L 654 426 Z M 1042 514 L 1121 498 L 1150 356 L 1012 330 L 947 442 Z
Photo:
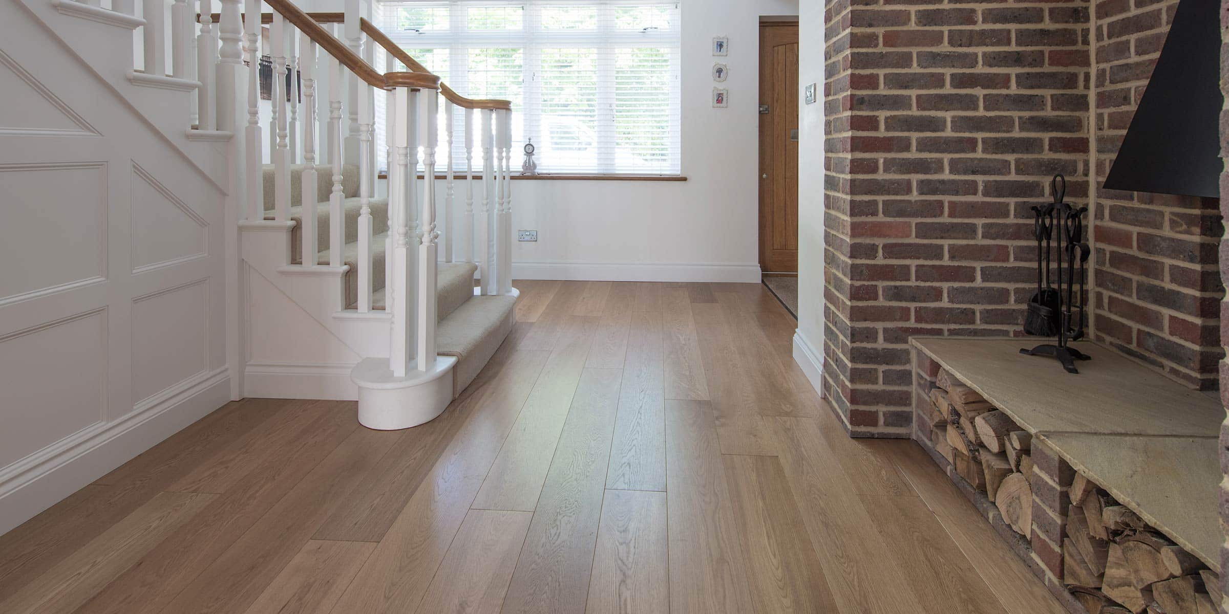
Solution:
M 1009 335 L 1030 206 L 1088 195 L 1088 4 L 828 2 L 828 399 L 908 436 L 911 335 Z

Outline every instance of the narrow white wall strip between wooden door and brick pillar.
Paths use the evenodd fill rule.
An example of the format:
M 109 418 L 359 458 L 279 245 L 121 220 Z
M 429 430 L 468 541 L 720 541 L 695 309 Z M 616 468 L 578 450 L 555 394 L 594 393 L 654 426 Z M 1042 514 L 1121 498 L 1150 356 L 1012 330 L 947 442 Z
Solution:
M 798 146 L 798 335 L 823 354 L 823 2 L 799 2 L 799 86 L 815 84 L 816 101 L 800 109 Z

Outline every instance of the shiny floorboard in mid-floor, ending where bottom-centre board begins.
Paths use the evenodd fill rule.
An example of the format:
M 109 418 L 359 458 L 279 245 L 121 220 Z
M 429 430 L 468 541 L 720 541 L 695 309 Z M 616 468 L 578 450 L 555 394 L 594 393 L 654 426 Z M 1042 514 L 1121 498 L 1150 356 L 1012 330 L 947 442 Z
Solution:
M 632 316 L 607 489 L 666 490 L 661 312 Z

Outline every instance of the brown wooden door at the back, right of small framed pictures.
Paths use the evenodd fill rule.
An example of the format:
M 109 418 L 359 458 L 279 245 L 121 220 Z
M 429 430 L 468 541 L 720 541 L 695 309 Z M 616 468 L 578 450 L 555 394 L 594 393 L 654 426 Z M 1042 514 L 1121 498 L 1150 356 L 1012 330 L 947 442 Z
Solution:
M 798 22 L 760 25 L 760 270 L 798 273 Z

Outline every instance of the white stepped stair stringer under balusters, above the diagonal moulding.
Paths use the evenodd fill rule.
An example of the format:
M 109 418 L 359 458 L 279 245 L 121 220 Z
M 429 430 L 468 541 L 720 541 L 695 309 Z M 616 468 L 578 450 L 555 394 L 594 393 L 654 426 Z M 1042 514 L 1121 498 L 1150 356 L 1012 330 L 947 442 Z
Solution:
M 294 226 L 289 221 L 241 222 L 243 262 L 351 351 L 364 359 L 387 359 L 392 318 L 379 312 L 344 312 L 343 275 L 348 266 L 290 264 Z

